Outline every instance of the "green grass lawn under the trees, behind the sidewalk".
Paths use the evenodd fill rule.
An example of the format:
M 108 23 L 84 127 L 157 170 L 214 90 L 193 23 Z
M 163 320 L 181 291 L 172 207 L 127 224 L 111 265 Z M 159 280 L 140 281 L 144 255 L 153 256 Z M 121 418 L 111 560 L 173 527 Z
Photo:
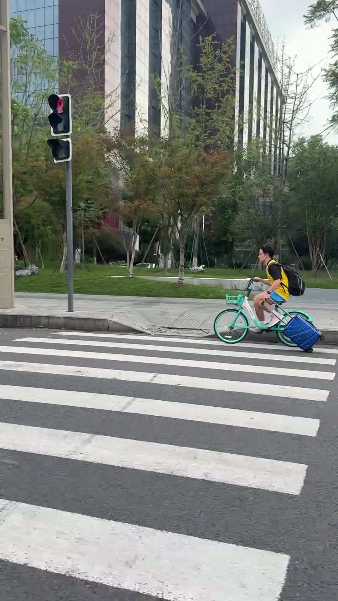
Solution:
M 118 266 L 94 266 L 88 264 L 87 271 L 83 266 L 75 270 L 74 291 L 76 294 L 108 294 L 112 296 L 162 296 L 169 298 L 206 298 L 223 299 L 226 292 L 223 288 L 212 288 L 203 285 L 185 284 L 179 286 L 176 281 L 162 282 L 140 279 L 137 276 L 160 276 L 165 275 L 162 269 L 134 269 L 134 278 L 109 278 L 108 275 L 126 275 L 126 267 Z M 168 270 L 169 276 L 177 277 L 176 269 Z M 206 269 L 204 273 L 194 275 L 189 270 L 186 276 L 210 277 L 210 278 L 249 278 L 250 270 L 242 272 L 232 269 Z M 254 275 L 262 276 L 262 272 Z M 321 274 L 316 277 L 310 272 L 302 273 L 309 288 L 338 288 L 338 276 L 333 275 L 331 280 L 328 275 Z M 29 278 L 18 278 L 15 282 L 17 292 L 41 292 L 41 293 L 66 293 L 67 273 L 61 275 L 59 270 L 51 266 L 40 269 L 38 275 Z M 237 294 L 232 292 L 232 294 Z

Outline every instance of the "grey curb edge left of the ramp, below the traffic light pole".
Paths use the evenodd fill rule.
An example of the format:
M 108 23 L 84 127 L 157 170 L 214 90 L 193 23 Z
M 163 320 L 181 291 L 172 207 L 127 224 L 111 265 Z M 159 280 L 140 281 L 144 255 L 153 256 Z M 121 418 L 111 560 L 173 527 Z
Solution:
M 45 328 L 50 330 L 82 330 L 87 332 L 117 332 L 150 334 L 141 325 L 128 325 L 115 317 L 79 317 L 59 315 L 34 315 L 19 313 L 0 314 L 0 328 Z

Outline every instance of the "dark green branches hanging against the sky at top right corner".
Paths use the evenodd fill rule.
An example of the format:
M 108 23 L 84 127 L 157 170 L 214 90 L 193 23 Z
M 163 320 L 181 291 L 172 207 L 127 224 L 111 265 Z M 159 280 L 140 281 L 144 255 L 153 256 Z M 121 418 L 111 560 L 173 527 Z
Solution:
M 321 21 L 330 22 L 335 19 L 338 22 L 338 2 L 336 0 L 317 0 L 310 4 L 307 13 L 304 14 L 306 25 L 314 28 Z M 330 51 L 333 61 L 324 71 L 324 81 L 328 86 L 328 100 L 330 100 L 333 115 L 329 120 L 330 126 L 338 128 L 338 27 L 334 27 L 331 35 Z

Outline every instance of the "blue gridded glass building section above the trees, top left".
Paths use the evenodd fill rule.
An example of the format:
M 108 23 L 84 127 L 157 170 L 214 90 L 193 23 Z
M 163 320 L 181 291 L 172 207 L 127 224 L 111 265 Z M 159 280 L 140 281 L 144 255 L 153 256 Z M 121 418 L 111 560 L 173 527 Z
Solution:
M 11 17 L 22 17 L 26 28 L 51 56 L 59 55 L 58 0 L 10 0 Z

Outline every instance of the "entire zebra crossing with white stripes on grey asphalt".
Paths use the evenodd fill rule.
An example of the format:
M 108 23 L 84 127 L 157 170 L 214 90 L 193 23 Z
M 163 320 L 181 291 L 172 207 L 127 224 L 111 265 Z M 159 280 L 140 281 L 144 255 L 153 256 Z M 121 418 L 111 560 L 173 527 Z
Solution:
M 95 583 L 97 601 L 278 601 L 337 353 L 13 331 L 0 570 Z

